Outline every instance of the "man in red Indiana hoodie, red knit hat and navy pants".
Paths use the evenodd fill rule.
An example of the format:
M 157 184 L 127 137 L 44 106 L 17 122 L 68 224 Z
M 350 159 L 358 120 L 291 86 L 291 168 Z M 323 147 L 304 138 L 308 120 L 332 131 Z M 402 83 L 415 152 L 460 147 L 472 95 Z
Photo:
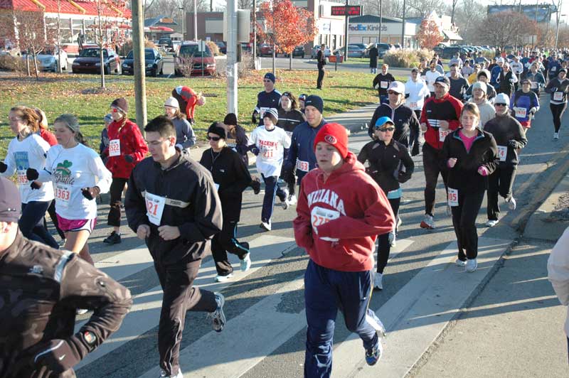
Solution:
M 330 377 L 338 310 L 358 333 L 366 362 L 381 357 L 376 314 L 368 309 L 376 236 L 395 227 L 385 194 L 348 151 L 340 124 L 324 125 L 314 139 L 318 168 L 302 179 L 294 238 L 310 260 L 304 274 L 307 349 L 304 377 Z

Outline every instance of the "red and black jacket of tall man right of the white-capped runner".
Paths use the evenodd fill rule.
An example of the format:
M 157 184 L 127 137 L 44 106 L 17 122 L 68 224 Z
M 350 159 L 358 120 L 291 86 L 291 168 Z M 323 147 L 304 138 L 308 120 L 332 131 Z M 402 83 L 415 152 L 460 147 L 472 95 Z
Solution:
M 460 126 L 460 112 L 462 112 L 462 102 L 449 95 L 448 93 L 442 99 L 429 97 L 425 100 L 422 106 L 421 123 L 427 124 L 427 131 L 425 131 L 425 143 L 436 148 L 442 149 L 442 143 L 445 137 L 440 134 L 439 127 L 433 127 L 431 121 L 444 120 L 449 123 L 449 131 L 458 129 Z M 441 140 L 442 139 L 442 140 Z

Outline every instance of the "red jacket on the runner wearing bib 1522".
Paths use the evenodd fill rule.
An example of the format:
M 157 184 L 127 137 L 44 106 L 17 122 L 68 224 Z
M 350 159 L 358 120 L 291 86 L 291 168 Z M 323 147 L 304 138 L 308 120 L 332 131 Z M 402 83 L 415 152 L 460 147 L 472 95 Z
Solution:
M 120 155 L 109 156 L 109 147 L 102 151 L 103 156 L 109 156 L 105 166 L 111 171 L 112 177 L 129 178 L 132 168 L 142 161 L 148 153 L 148 146 L 140 134 L 140 130 L 134 122 L 127 119 L 124 126 L 120 121 L 112 121 L 109 125 L 109 143 L 114 139 L 120 141 Z M 124 160 L 124 156 L 130 155 L 132 163 Z

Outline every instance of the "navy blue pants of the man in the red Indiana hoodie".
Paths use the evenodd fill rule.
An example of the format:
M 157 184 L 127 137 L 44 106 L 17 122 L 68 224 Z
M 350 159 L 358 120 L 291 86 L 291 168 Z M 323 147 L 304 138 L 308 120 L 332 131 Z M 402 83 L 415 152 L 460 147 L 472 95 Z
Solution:
M 332 371 L 332 339 L 338 310 L 351 332 L 371 349 L 378 343 L 376 330 L 366 321 L 371 299 L 371 271 L 336 271 L 309 260 L 304 273 L 307 314 L 305 378 L 328 378 Z M 363 353 L 362 353 L 363 354 Z

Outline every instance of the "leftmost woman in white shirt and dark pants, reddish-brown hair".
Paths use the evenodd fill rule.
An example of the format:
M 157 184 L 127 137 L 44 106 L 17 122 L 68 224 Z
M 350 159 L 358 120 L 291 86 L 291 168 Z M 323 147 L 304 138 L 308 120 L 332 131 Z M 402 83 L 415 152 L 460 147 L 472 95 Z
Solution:
M 10 109 L 10 129 L 16 137 L 10 141 L 0 174 L 11 177 L 16 173 L 21 198 L 21 218 L 18 227 L 24 237 L 58 249 L 59 244 L 43 225 L 43 216 L 53 201 L 53 185 L 28 181 L 26 171 L 41 171 L 46 166 L 48 142 L 38 135 L 38 114 L 31 108 L 18 106 Z

